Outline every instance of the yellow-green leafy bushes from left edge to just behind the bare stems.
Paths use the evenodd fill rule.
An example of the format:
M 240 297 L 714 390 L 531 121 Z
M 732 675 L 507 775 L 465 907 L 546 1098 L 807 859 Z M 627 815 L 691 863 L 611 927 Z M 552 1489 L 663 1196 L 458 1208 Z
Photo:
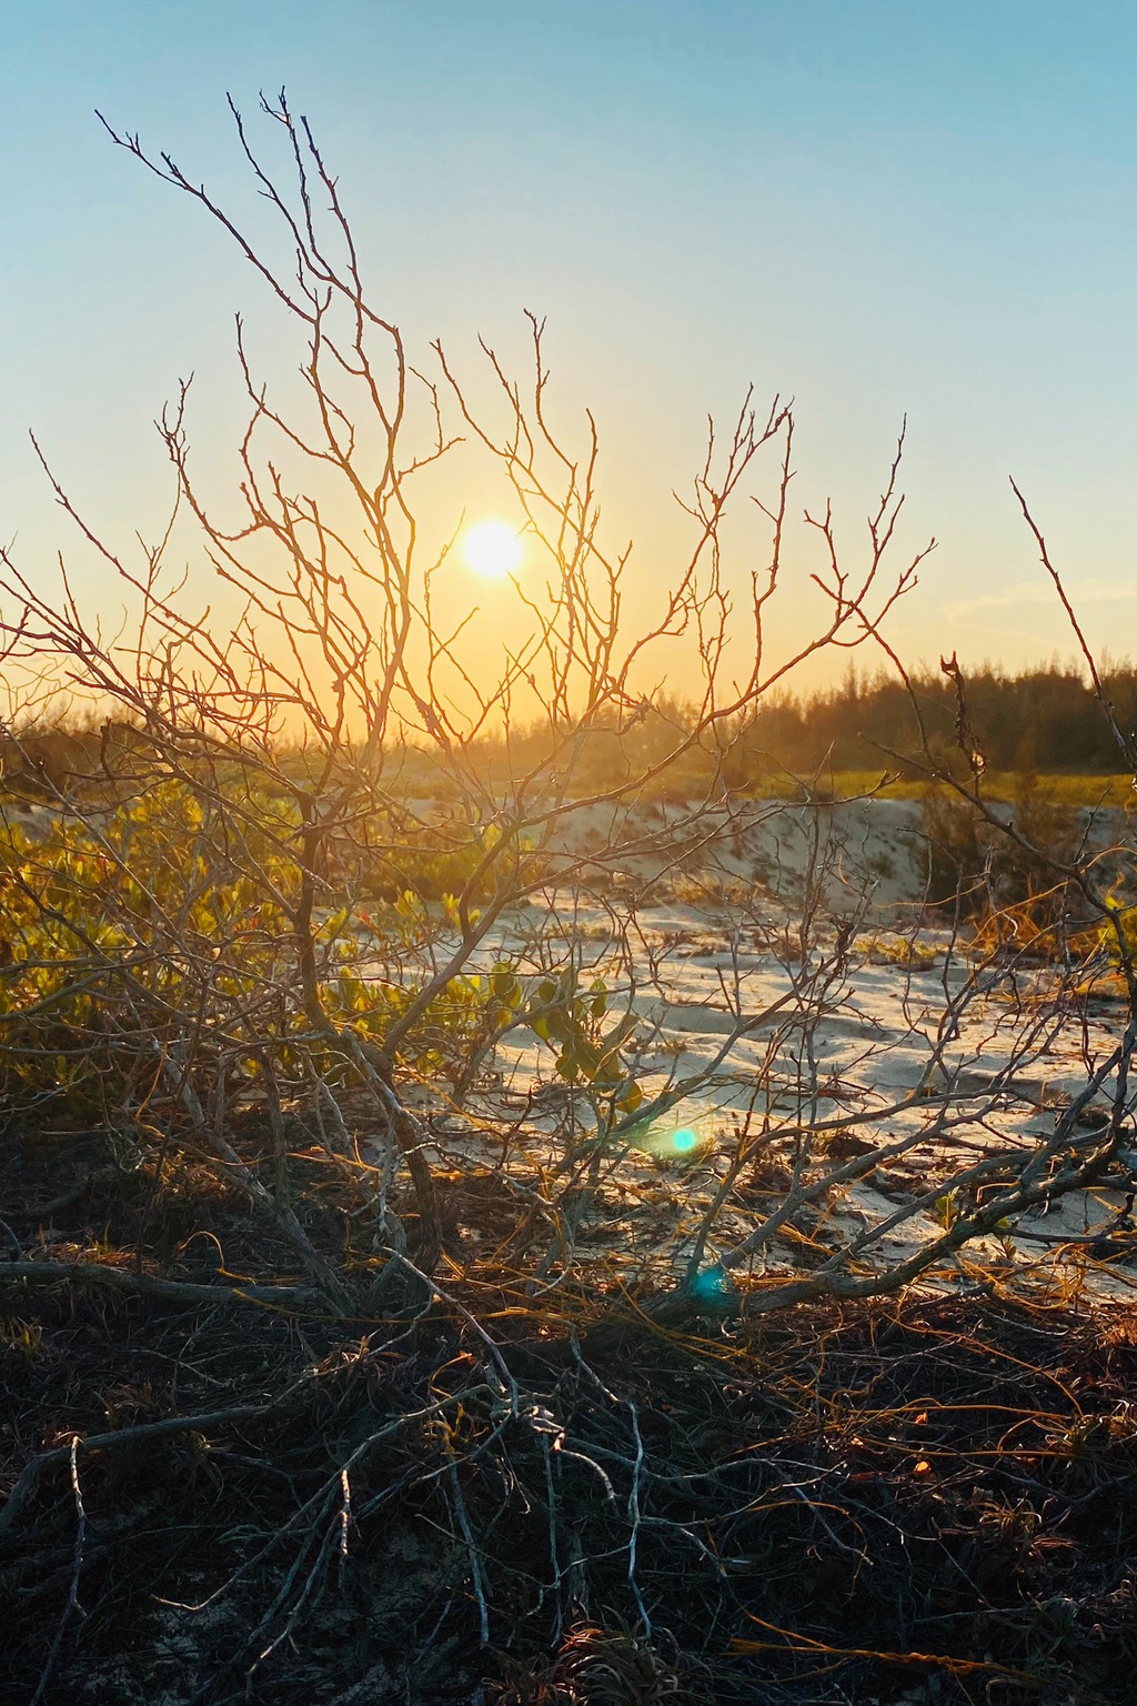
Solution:
M 239 810 L 230 800 L 215 812 L 174 781 L 106 812 L 60 817 L 43 834 L 9 822 L 0 1094 L 61 1100 L 77 1114 L 128 1092 L 145 1100 L 169 1047 L 184 1056 L 194 1024 L 203 1039 L 228 1039 L 244 1076 L 257 1076 L 264 1046 L 278 1065 L 297 1065 L 295 1042 L 312 1029 L 297 976 L 298 824 L 283 797 L 245 795 Z M 453 896 L 433 914 L 413 889 L 373 913 L 320 911 L 314 947 L 332 1024 L 382 1042 L 423 988 L 424 950 L 455 916 Z M 360 974 L 375 955 L 394 959 L 397 974 Z M 488 1008 L 482 979 L 452 979 L 401 1058 L 453 1071 L 486 1030 Z M 322 1058 L 326 1044 L 307 1036 L 305 1047 Z

